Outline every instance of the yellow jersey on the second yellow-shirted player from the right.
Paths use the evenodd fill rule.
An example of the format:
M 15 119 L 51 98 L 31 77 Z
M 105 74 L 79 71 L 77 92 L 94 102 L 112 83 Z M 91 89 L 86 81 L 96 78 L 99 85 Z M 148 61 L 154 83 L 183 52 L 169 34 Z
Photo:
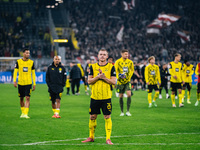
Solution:
M 178 62 L 175 63 L 174 61 L 170 62 L 169 64 L 169 73 L 171 75 L 170 81 L 173 83 L 181 83 L 182 79 L 182 63 Z M 174 78 L 177 76 L 177 79 Z

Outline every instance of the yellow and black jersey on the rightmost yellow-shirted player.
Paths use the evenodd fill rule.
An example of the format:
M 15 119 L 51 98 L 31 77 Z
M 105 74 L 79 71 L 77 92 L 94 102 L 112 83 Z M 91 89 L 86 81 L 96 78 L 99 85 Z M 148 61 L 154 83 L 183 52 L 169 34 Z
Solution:
M 183 81 L 186 83 L 192 82 L 192 75 L 194 73 L 194 66 L 190 64 L 187 66 L 186 64 L 183 65 Z

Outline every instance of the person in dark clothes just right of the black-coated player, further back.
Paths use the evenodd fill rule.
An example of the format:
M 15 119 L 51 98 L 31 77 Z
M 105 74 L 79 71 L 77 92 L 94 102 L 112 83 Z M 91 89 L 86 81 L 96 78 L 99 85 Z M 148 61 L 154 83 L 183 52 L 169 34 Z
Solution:
M 76 95 L 79 95 L 79 87 L 80 87 L 80 80 L 81 80 L 81 70 L 76 65 L 75 62 L 70 63 L 70 81 L 71 81 L 71 89 L 72 94 L 75 94 L 75 86 L 76 86 Z

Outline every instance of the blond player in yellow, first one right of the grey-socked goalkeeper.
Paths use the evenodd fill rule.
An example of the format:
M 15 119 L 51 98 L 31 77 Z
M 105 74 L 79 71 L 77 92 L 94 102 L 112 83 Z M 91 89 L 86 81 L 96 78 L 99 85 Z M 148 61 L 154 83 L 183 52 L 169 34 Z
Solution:
M 158 65 L 155 65 L 155 57 L 151 56 L 148 58 L 149 65 L 145 67 L 145 80 L 148 85 L 148 102 L 149 102 L 149 108 L 152 107 L 152 103 L 154 107 L 157 107 L 156 99 L 159 95 L 159 88 L 158 84 L 161 85 L 161 79 L 160 79 L 160 70 Z M 152 102 L 152 91 L 155 90 L 155 95 Z

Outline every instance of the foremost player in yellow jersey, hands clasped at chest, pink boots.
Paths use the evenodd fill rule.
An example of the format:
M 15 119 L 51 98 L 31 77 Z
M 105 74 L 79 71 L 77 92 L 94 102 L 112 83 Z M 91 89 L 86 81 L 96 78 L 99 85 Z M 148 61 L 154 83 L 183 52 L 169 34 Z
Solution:
M 111 121 L 111 89 L 116 81 L 115 68 L 112 64 L 107 63 L 108 52 L 101 49 L 98 53 L 98 63 L 92 64 L 88 76 L 88 83 L 92 85 L 92 95 L 90 101 L 90 120 L 89 120 L 89 138 L 85 142 L 94 142 L 94 132 L 96 128 L 97 115 L 100 109 L 104 114 L 106 129 L 106 144 L 112 145 L 110 140 L 112 121 Z

